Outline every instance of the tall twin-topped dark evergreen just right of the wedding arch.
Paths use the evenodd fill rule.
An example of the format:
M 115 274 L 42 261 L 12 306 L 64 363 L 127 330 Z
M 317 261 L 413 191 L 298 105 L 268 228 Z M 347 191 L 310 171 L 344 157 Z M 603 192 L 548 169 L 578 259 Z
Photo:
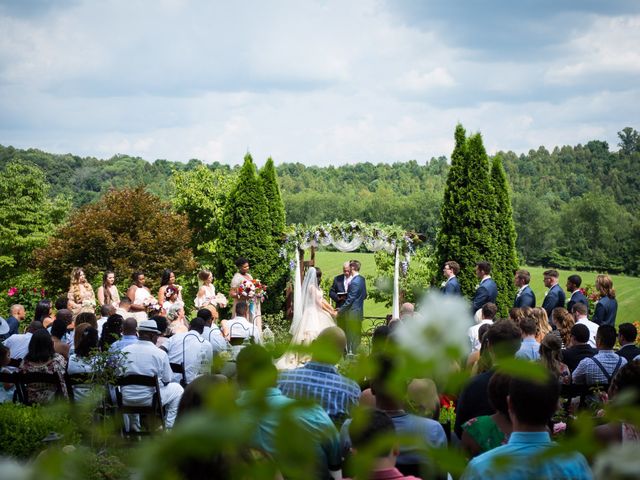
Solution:
M 462 292 L 472 297 L 478 283 L 476 262 L 493 259 L 495 204 L 482 137 L 475 134 L 466 139 L 464 128 L 458 125 L 455 140 L 440 210 L 436 258 L 440 268 L 447 260 L 460 264 Z

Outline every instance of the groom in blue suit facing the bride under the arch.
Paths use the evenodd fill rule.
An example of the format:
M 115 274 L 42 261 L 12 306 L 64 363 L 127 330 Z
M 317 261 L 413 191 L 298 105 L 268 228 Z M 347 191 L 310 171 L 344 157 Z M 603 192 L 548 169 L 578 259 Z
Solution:
M 338 310 L 338 325 L 347 334 L 347 354 L 358 353 L 364 318 L 364 299 L 367 298 L 367 285 L 360 275 L 360 262 L 351 260 L 351 280 L 347 289 L 347 299 Z

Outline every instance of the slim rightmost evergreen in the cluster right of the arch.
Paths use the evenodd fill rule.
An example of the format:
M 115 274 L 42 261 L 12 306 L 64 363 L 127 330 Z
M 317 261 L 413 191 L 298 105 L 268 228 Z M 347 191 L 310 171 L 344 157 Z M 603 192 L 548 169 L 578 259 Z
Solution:
M 496 204 L 496 212 L 493 217 L 496 253 L 492 276 L 498 284 L 499 316 L 506 317 L 516 293 L 513 275 L 518 268 L 518 255 L 516 253 L 516 227 L 511 208 L 511 191 L 502 166 L 502 158 L 499 155 L 493 158 L 491 164 L 491 184 Z

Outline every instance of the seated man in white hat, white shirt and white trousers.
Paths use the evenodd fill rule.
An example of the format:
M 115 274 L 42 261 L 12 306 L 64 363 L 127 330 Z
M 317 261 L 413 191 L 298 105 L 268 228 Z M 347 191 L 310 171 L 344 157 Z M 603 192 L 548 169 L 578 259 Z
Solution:
M 155 320 L 144 320 L 138 325 L 138 342 L 122 349 L 126 354 L 125 375 L 158 376 L 160 401 L 165 407 L 167 428 L 172 428 L 178 413 L 178 404 L 184 389 L 172 382 L 173 372 L 167 352 L 156 347 L 160 330 Z M 153 391 L 149 387 L 130 385 L 122 388 L 126 405 L 149 405 Z

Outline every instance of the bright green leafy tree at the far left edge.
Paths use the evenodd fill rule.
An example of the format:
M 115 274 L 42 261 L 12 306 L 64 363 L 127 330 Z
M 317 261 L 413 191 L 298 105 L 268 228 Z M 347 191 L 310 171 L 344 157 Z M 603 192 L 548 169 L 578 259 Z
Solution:
M 13 161 L 0 170 L 0 278 L 24 273 L 33 249 L 42 247 L 68 210 L 51 199 L 38 167 Z M 4 282 L 3 282 L 4 283 Z

